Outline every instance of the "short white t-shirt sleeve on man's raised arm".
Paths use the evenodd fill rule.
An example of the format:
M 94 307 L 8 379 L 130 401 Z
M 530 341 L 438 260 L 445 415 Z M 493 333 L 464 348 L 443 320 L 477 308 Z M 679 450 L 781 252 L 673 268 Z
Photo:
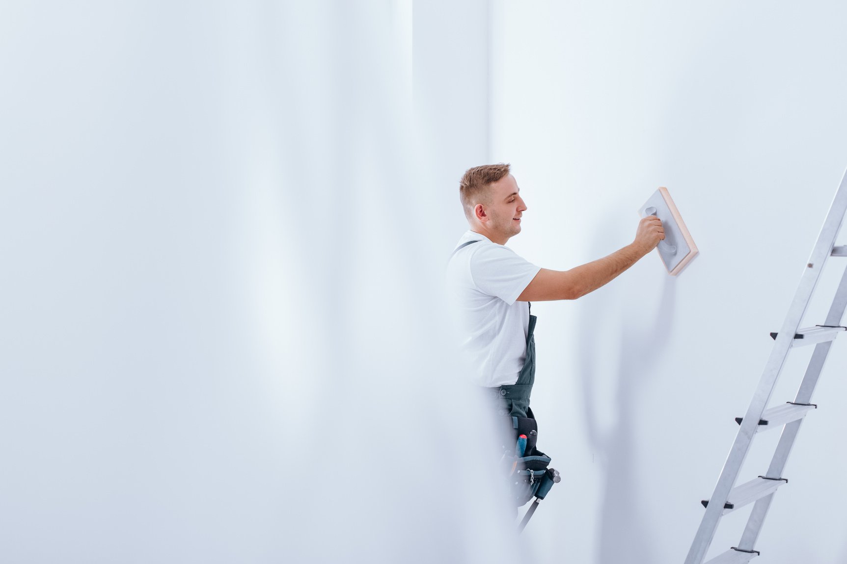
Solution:
M 509 305 L 515 303 L 541 270 L 512 249 L 488 244 L 475 250 L 470 265 L 473 283 L 479 290 Z

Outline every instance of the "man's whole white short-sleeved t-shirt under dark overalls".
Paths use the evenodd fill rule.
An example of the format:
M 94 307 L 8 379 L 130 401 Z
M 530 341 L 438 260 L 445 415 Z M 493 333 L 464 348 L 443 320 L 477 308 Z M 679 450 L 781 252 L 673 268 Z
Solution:
M 541 270 L 512 249 L 468 231 L 447 264 L 447 282 L 462 321 L 462 349 L 480 386 L 514 384 L 523 368 L 529 331 L 529 304 L 516 302 Z M 454 248 L 454 249 L 455 249 Z

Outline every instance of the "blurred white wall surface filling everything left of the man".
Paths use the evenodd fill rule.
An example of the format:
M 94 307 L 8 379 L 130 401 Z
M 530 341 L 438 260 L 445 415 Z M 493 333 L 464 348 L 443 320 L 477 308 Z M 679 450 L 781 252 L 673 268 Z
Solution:
M 408 8 L 0 7 L 0 560 L 517 559 Z

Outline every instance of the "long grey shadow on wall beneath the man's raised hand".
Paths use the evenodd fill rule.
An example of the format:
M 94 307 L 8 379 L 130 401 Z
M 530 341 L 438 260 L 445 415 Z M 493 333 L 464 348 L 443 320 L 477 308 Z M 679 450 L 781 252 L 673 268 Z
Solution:
M 617 287 L 620 291 L 621 286 Z M 675 299 L 676 278 L 667 276 L 651 322 L 647 322 L 649 317 L 640 315 L 642 312 L 639 308 L 629 307 L 628 304 L 623 305 L 619 312 L 612 311 L 616 303 L 614 299 L 596 300 L 592 307 L 583 309 L 580 315 L 582 339 L 579 343 L 579 373 L 584 385 L 586 427 L 589 443 L 600 454 L 600 468 L 605 472 L 598 538 L 600 547 L 597 561 L 600 564 L 619 564 L 624 561 L 646 564 L 656 561 L 655 555 L 651 554 L 649 534 L 643 524 L 645 514 L 639 510 L 639 501 L 634 493 L 638 488 L 638 473 L 634 468 L 634 448 L 638 441 L 634 433 L 634 421 L 637 419 L 635 406 L 638 405 L 639 391 L 650 378 L 656 359 L 667 346 Z M 598 369 L 598 365 L 601 365 L 598 355 L 604 354 L 602 348 L 612 344 L 605 337 L 609 331 L 604 326 L 604 320 L 621 320 L 617 382 L 614 388 L 615 411 L 607 424 L 601 421 L 598 409 L 598 402 L 603 402 L 604 398 L 599 397 L 596 390 L 596 383 L 603 379 L 602 369 Z M 606 344 L 602 344 L 604 342 Z M 598 343 L 601 343 L 602 348 L 597 346 Z

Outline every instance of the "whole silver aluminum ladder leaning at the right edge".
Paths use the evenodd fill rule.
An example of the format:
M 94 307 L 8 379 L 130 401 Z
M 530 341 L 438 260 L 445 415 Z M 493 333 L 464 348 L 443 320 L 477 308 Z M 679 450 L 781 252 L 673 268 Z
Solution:
M 750 401 L 750 407 L 747 408 L 747 413 L 743 418 L 736 419 L 740 424 L 739 432 L 729 451 L 727 461 L 723 464 L 715 491 L 711 494 L 709 501 L 702 501 L 706 506 L 706 513 L 700 522 L 700 528 L 697 529 L 688 556 L 685 558 L 685 564 L 702 564 L 711 541 L 715 537 L 721 517 L 750 503 L 756 505 L 750 512 L 750 518 L 747 520 L 739 544 L 715 556 L 706 564 L 746 564 L 759 555 L 759 551 L 755 550 L 756 539 L 767 517 L 773 494 L 780 486 L 788 482 L 783 478 L 783 469 L 797 432 L 800 430 L 800 423 L 803 422 L 806 413 L 817 408 L 811 404 L 811 395 L 815 391 L 818 376 L 821 375 L 833 340 L 839 333 L 845 331 L 845 328 L 839 325 L 844 315 L 844 308 L 847 306 L 847 268 L 841 277 L 826 320 L 820 326 L 800 328 L 800 321 L 803 319 L 805 309 L 821 276 L 824 263 L 830 255 L 847 256 L 847 246 L 835 246 L 835 238 L 844 222 L 845 211 L 847 211 L 847 172 L 844 172 L 839 189 L 835 193 L 833 204 L 829 208 L 826 221 L 823 222 L 815 248 L 811 251 L 811 257 L 800 278 L 800 286 L 794 294 L 794 300 L 791 302 L 788 315 L 785 316 L 782 329 L 778 333 L 771 333 L 771 337 L 775 340 L 773 350 L 770 358 L 767 359 L 765 370 Z M 789 351 L 791 348 L 806 345 L 815 345 L 815 350 L 811 354 L 811 360 L 794 401 L 767 408 L 773 387 L 777 383 Z M 757 432 L 775 428 L 782 428 L 783 433 L 767 473 L 736 486 L 735 482 L 747 452 L 750 450 L 753 436 Z

